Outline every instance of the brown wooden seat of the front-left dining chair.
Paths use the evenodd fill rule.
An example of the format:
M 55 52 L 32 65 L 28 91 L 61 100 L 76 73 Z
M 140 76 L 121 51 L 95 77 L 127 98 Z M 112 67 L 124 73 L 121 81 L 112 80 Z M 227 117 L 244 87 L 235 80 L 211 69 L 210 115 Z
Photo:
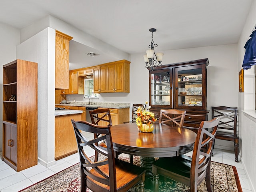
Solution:
M 124 186 L 124 183 L 132 182 L 132 180 L 134 180 L 134 185 L 136 185 L 140 181 L 138 176 L 140 176 L 144 172 L 146 172 L 146 170 L 144 168 L 130 164 L 128 162 L 124 162 L 124 161 L 116 159 L 116 158 L 115 158 L 115 164 L 116 164 L 116 188 L 117 188 L 117 191 L 122 188 L 125 188 L 126 186 Z M 103 172 L 108 173 L 108 164 L 102 165 L 99 168 Z M 104 177 L 101 176 L 100 174 L 98 174 L 95 170 L 91 170 L 91 171 L 93 172 L 94 175 L 97 175 L 104 179 Z M 87 185 L 89 188 L 90 188 L 89 183 L 92 182 L 93 186 L 95 186 L 95 184 L 100 186 L 102 188 L 102 191 L 109 190 L 108 185 L 102 184 L 100 182 L 96 182 L 95 180 L 93 180 L 90 177 L 87 177 L 87 178 L 88 178 Z

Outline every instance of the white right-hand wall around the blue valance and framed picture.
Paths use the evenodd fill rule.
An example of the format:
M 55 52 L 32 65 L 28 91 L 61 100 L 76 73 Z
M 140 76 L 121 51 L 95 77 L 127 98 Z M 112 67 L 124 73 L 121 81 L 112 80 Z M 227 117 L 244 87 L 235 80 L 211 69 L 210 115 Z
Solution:
M 256 1 L 253 1 L 250 13 L 244 24 L 240 40 L 238 42 L 238 71 L 242 68 L 244 59 L 244 45 L 255 30 L 256 25 Z M 242 142 L 242 164 L 246 175 L 250 180 L 252 191 L 256 191 L 256 113 L 255 113 L 255 67 L 244 71 L 244 92 L 238 93 L 240 138 Z M 243 112 L 241 112 L 243 110 Z

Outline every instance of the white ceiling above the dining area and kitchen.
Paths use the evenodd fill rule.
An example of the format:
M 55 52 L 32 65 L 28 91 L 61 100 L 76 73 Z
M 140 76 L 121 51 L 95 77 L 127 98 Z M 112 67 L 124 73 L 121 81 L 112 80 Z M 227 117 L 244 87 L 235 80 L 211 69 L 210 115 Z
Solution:
M 254 0 L 0 0 L 0 22 L 24 28 L 48 14 L 129 54 L 142 53 L 156 28 L 157 51 L 237 43 Z M 70 69 L 113 61 L 70 43 Z M 72 51 L 73 50 L 73 51 Z M 76 50 L 76 51 L 75 51 Z M 86 56 L 96 52 L 100 56 Z

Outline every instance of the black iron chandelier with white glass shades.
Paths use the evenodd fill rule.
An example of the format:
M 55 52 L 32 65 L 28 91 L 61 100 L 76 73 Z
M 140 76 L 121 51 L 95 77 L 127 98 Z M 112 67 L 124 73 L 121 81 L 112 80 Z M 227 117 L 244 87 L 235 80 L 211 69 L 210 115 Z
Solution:
M 152 32 L 152 38 L 151 38 L 151 42 L 150 45 L 148 46 L 148 48 L 150 48 L 149 50 L 146 50 L 146 55 L 144 55 L 144 61 L 146 63 L 146 68 L 155 68 L 157 66 L 162 66 L 161 62 L 162 62 L 162 58 L 163 58 L 163 53 L 155 53 L 154 49 L 155 47 L 157 47 L 157 44 L 154 44 L 153 41 L 153 33 L 156 32 L 156 29 L 151 28 L 149 30 L 150 32 Z

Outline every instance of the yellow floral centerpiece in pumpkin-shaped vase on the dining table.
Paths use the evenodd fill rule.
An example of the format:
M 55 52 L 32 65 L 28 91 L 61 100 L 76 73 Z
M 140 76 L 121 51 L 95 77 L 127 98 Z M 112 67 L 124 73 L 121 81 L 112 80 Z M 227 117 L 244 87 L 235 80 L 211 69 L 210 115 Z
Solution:
M 138 126 L 138 130 L 141 132 L 152 132 L 154 130 L 154 122 L 156 122 L 157 118 L 155 118 L 155 114 L 150 112 L 149 109 L 151 106 L 148 106 L 148 101 L 146 101 L 146 107 L 138 107 L 137 110 L 137 118 L 136 124 Z

